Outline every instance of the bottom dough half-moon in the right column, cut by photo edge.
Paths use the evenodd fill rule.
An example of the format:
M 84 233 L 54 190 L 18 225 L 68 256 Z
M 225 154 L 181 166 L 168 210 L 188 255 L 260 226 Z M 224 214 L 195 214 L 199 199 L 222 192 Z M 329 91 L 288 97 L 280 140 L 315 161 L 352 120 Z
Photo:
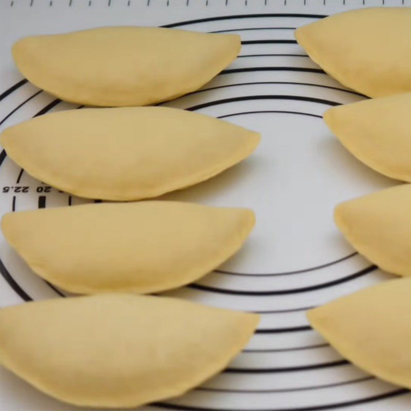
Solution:
M 315 330 L 354 365 L 411 388 L 411 278 L 395 279 L 308 311 Z

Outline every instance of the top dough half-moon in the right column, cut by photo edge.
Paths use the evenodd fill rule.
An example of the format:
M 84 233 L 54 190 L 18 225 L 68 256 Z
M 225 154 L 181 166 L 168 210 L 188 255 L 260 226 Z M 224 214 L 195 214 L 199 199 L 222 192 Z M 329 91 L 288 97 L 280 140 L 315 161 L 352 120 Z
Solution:
M 330 76 L 366 96 L 411 91 L 411 7 L 334 14 L 298 28 L 295 39 Z

